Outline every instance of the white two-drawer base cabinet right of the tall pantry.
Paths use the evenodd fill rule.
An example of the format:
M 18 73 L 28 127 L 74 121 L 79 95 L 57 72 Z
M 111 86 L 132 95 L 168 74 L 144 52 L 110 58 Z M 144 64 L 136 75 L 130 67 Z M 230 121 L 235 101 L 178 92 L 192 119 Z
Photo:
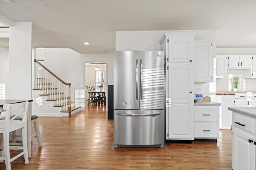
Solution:
M 219 106 L 194 106 L 194 139 L 219 138 Z

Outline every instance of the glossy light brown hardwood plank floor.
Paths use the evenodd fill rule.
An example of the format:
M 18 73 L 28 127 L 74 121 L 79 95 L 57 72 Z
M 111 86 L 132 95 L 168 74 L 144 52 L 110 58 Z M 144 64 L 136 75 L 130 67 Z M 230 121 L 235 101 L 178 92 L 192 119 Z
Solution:
M 39 117 L 42 147 L 32 141 L 29 164 L 12 170 L 231 170 L 232 134 L 218 142 L 166 143 L 160 148 L 113 148 L 113 120 L 104 106 L 86 106 L 72 117 Z M 0 170 L 5 170 L 4 162 Z

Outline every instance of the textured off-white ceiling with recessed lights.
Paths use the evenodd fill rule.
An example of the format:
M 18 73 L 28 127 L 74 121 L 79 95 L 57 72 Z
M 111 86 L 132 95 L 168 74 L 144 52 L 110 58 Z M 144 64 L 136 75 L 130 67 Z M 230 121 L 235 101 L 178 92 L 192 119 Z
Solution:
M 217 47 L 256 47 L 256 0 L 0 0 L 0 15 L 32 22 L 33 47 L 78 53 L 112 53 L 115 31 L 143 30 L 216 29 Z

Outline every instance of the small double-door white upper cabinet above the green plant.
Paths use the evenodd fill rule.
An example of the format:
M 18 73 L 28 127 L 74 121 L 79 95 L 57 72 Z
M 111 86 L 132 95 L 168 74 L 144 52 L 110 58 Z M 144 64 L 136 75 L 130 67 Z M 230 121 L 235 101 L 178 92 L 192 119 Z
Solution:
M 250 55 L 229 55 L 228 68 L 250 68 L 251 56 Z

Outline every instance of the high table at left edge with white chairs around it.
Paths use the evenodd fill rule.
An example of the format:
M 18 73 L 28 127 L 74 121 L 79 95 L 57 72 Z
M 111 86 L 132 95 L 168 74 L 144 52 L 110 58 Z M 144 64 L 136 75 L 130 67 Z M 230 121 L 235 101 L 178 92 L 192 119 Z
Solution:
M 0 115 L 4 111 L 4 104 L 15 104 L 28 101 L 28 117 L 27 117 L 27 141 L 28 141 L 28 158 L 31 157 L 31 115 L 33 100 L 0 100 Z

